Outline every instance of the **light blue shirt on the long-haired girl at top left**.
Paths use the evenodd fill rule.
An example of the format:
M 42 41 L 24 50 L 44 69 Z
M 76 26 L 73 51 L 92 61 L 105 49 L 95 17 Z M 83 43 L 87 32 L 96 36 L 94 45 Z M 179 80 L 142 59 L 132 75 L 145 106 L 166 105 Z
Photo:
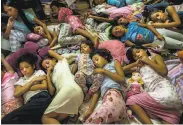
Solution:
M 25 16 L 27 17 L 28 21 L 33 23 L 35 17 L 32 14 L 28 13 L 28 12 L 24 11 L 24 13 L 25 13 Z M 15 20 L 14 24 L 13 24 L 13 27 L 14 27 L 14 29 L 20 30 L 20 31 L 22 31 L 25 34 L 28 34 L 28 33 L 31 32 L 29 30 L 29 28 L 23 23 L 23 21 L 20 22 L 20 21 Z

